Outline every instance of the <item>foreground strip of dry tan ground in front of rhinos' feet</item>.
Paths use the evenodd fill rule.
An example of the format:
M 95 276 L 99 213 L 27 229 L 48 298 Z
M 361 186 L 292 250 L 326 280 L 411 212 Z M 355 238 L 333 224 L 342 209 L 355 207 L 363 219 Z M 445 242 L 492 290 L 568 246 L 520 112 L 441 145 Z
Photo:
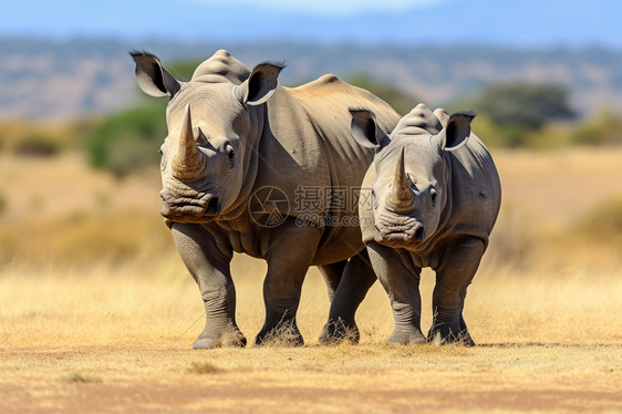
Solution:
M 2 413 L 622 410 L 620 345 L 84 348 L 0 355 Z M 205 362 L 218 370 L 188 370 Z M 63 379 L 73 371 L 101 381 Z

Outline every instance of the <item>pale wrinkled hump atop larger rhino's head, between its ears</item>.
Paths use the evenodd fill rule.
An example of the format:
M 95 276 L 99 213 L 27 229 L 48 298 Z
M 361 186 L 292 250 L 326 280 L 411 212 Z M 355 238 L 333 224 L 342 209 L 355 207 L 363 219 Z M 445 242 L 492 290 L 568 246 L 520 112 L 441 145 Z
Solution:
M 198 65 L 193 82 L 219 83 L 229 81 L 240 84 L 248 79 L 250 71 L 226 50 L 219 50 Z

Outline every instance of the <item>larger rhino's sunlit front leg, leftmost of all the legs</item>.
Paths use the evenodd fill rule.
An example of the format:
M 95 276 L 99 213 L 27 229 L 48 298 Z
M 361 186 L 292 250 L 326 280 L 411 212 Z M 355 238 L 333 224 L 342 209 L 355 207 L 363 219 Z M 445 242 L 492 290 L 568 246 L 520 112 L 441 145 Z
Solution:
M 229 270 L 231 250 L 219 246 L 199 225 L 176 222 L 172 232 L 205 306 L 205 328 L 193 348 L 246 345 L 246 338 L 236 324 L 236 289 Z

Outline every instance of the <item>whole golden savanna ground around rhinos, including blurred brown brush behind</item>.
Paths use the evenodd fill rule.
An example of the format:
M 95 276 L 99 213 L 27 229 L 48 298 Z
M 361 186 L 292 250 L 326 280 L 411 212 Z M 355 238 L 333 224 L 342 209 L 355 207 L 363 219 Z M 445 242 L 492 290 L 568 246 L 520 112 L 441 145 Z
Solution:
M 361 344 L 193 351 L 197 288 L 158 218 L 157 170 L 123 182 L 77 156 L 0 159 L 0 412 L 620 412 L 622 259 L 594 211 L 622 195 L 622 149 L 494 153 L 504 206 L 465 319 L 478 346 L 387 346 L 376 283 Z M 594 235 L 590 229 L 598 229 Z M 266 265 L 237 256 L 238 323 L 263 322 Z M 434 275 L 424 272 L 423 325 Z

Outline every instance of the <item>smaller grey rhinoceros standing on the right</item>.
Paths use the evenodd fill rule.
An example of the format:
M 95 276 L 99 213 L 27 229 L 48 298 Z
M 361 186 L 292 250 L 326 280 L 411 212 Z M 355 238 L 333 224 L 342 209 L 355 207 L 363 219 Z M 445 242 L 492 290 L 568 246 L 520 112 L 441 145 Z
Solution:
M 391 136 L 369 111 L 354 111 L 352 134 L 376 155 L 363 180 L 359 213 L 372 266 L 388 293 L 390 343 L 416 343 L 419 277 L 436 271 L 428 340 L 473 345 L 463 308 L 468 284 L 499 213 L 501 187 L 490 154 L 470 131 L 471 112 L 448 115 L 419 104 Z

